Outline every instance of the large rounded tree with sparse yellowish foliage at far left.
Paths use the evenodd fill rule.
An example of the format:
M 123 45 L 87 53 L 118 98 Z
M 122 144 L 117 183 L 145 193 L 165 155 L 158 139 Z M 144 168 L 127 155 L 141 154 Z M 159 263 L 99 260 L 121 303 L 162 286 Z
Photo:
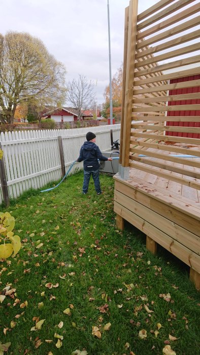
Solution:
M 65 101 L 65 68 L 43 42 L 28 33 L 0 34 L 0 120 L 13 123 L 16 107 L 34 102 L 42 111 L 46 105 Z

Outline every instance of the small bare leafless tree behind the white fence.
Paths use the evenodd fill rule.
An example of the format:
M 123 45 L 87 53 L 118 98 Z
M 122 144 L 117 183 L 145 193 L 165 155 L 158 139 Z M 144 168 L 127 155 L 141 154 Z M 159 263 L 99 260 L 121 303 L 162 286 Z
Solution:
M 66 96 L 69 103 L 77 110 L 80 121 L 83 112 L 90 109 L 95 102 L 94 84 L 79 74 L 77 80 L 73 79 L 72 82 L 68 82 L 67 88 Z

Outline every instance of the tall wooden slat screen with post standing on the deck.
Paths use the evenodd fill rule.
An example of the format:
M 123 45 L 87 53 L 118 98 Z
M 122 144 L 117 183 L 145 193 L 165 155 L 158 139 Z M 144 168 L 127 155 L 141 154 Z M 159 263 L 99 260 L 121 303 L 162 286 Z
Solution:
M 134 54 L 124 54 L 120 162 L 200 189 L 199 2 L 161 0 L 137 16 L 136 29 L 129 20 L 136 1 L 128 20 L 126 9 L 124 50 Z

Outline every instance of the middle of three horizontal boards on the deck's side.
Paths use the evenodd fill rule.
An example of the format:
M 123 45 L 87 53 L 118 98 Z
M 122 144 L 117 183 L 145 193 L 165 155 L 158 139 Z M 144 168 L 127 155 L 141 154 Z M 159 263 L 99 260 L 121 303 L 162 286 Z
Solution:
M 127 208 L 135 215 L 139 217 L 144 216 L 145 221 L 149 222 L 200 256 L 200 238 L 185 229 L 184 215 L 182 215 L 182 223 L 179 221 L 179 225 L 161 216 L 159 212 L 157 213 L 153 211 L 151 208 L 146 207 L 142 203 L 137 202 L 135 199 L 131 199 L 119 191 L 115 191 L 114 201 Z

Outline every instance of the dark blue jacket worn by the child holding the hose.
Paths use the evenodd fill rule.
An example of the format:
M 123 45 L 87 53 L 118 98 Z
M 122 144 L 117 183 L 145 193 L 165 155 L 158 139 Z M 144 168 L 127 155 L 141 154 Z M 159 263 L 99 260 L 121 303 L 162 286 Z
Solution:
M 86 171 L 97 170 L 99 168 L 98 160 L 106 161 L 107 157 L 102 155 L 101 150 L 98 146 L 91 142 L 85 141 L 80 150 L 80 155 L 77 161 L 83 161 L 83 168 Z

